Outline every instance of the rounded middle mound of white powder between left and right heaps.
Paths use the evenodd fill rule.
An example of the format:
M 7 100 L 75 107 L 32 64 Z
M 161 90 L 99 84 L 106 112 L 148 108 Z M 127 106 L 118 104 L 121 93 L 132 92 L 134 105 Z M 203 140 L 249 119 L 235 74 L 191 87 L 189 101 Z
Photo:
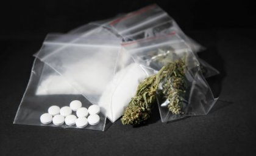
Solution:
M 66 66 L 63 76 L 80 93 L 89 96 L 99 95 L 112 79 L 115 68 L 112 62 L 113 59 L 108 57 L 104 59 L 100 55 L 93 56 L 92 58 L 88 57 Z

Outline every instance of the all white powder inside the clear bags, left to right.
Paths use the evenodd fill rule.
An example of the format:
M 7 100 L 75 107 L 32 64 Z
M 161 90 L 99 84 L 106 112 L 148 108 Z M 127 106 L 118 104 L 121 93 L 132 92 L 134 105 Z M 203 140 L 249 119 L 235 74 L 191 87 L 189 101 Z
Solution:
M 132 61 L 128 53 L 122 53 L 118 58 L 113 52 L 103 54 L 88 55 L 75 63 L 66 64 L 61 73 L 63 81 L 62 76 L 49 76 L 42 81 L 37 93 L 82 94 L 91 103 L 98 104 L 110 121 L 118 120 L 135 95 L 140 81 L 148 76 L 148 71 L 137 63 L 127 65 Z M 117 60 L 119 64 L 116 64 Z M 117 72 L 114 75 L 115 69 Z

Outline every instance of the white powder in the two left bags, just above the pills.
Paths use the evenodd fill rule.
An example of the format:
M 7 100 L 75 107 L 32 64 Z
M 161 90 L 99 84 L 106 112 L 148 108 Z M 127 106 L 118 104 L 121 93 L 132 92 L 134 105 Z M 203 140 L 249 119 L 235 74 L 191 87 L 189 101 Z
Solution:
M 87 63 L 87 64 L 85 64 Z M 91 64 L 90 64 L 91 63 Z M 82 65 L 85 64 L 85 65 Z M 87 66 L 86 66 L 87 65 Z M 80 61 L 72 64 L 62 75 L 50 75 L 41 81 L 36 95 L 99 95 L 108 84 L 113 69 L 101 66 L 101 69 L 93 62 Z M 104 76 L 102 78 L 101 76 Z

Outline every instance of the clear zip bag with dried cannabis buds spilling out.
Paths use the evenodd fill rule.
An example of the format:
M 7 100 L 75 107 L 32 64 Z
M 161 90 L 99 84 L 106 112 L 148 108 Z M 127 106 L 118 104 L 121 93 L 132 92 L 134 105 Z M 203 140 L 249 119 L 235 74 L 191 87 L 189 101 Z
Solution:
M 137 42 L 127 42 L 123 44 L 123 47 L 137 63 L 156 71 L 157 79 L 153 79 L 154 75 L 149 75 L 149 78 L 153 76 L 152 79 L 144 83 L 157 81 L 155 87 L 157 87 L 157 103 L 162 122 L 186 116 L 205 115 L 215 104 L 217 98 L 213 97 L 202 75 L 197 56 L 178 35 L 170 34 Z M 143 92 L 143 89 L 143 87 L 138 87 L 137 93 Z M 122 118 L 124 124 L 138 124 L 149 117 L 148 114 L 151 112 L 149 106 L 154 99 L 151 97 L 152 93 L 154 93 L 154 87 L 152 87 L 152 92 L 151 90 L 143 92 L 143 98 L 136 99 L 137 104 L 132 103 L 132 106 L 124 112 Z M 146 104 L 142 105 L 144 109 L 140 110 L 144 113 L 135 117 L 130 115 L 136 105 L 139 104 L 141 107 L 140 103 Z M 141 114 L 144 116 L 140 116 Z

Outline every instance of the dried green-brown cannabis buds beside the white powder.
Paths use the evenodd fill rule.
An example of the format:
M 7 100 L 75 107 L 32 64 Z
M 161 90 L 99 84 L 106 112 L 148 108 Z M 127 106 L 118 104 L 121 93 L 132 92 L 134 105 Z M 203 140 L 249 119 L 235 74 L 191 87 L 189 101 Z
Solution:
M 181 99 L 186 88 L 184 69 L 185 61 L 179 59 L 163 66 L 157 74 L 145 78 L 139 84 L 135 97 L 124 110 L 124 115 L 121 118 L 122 123 L 137 125 L 148 120 L 160 83 L 163 88 L 160 95 L 169 101 L 169 111 L 172 114 L 181 114 Z

